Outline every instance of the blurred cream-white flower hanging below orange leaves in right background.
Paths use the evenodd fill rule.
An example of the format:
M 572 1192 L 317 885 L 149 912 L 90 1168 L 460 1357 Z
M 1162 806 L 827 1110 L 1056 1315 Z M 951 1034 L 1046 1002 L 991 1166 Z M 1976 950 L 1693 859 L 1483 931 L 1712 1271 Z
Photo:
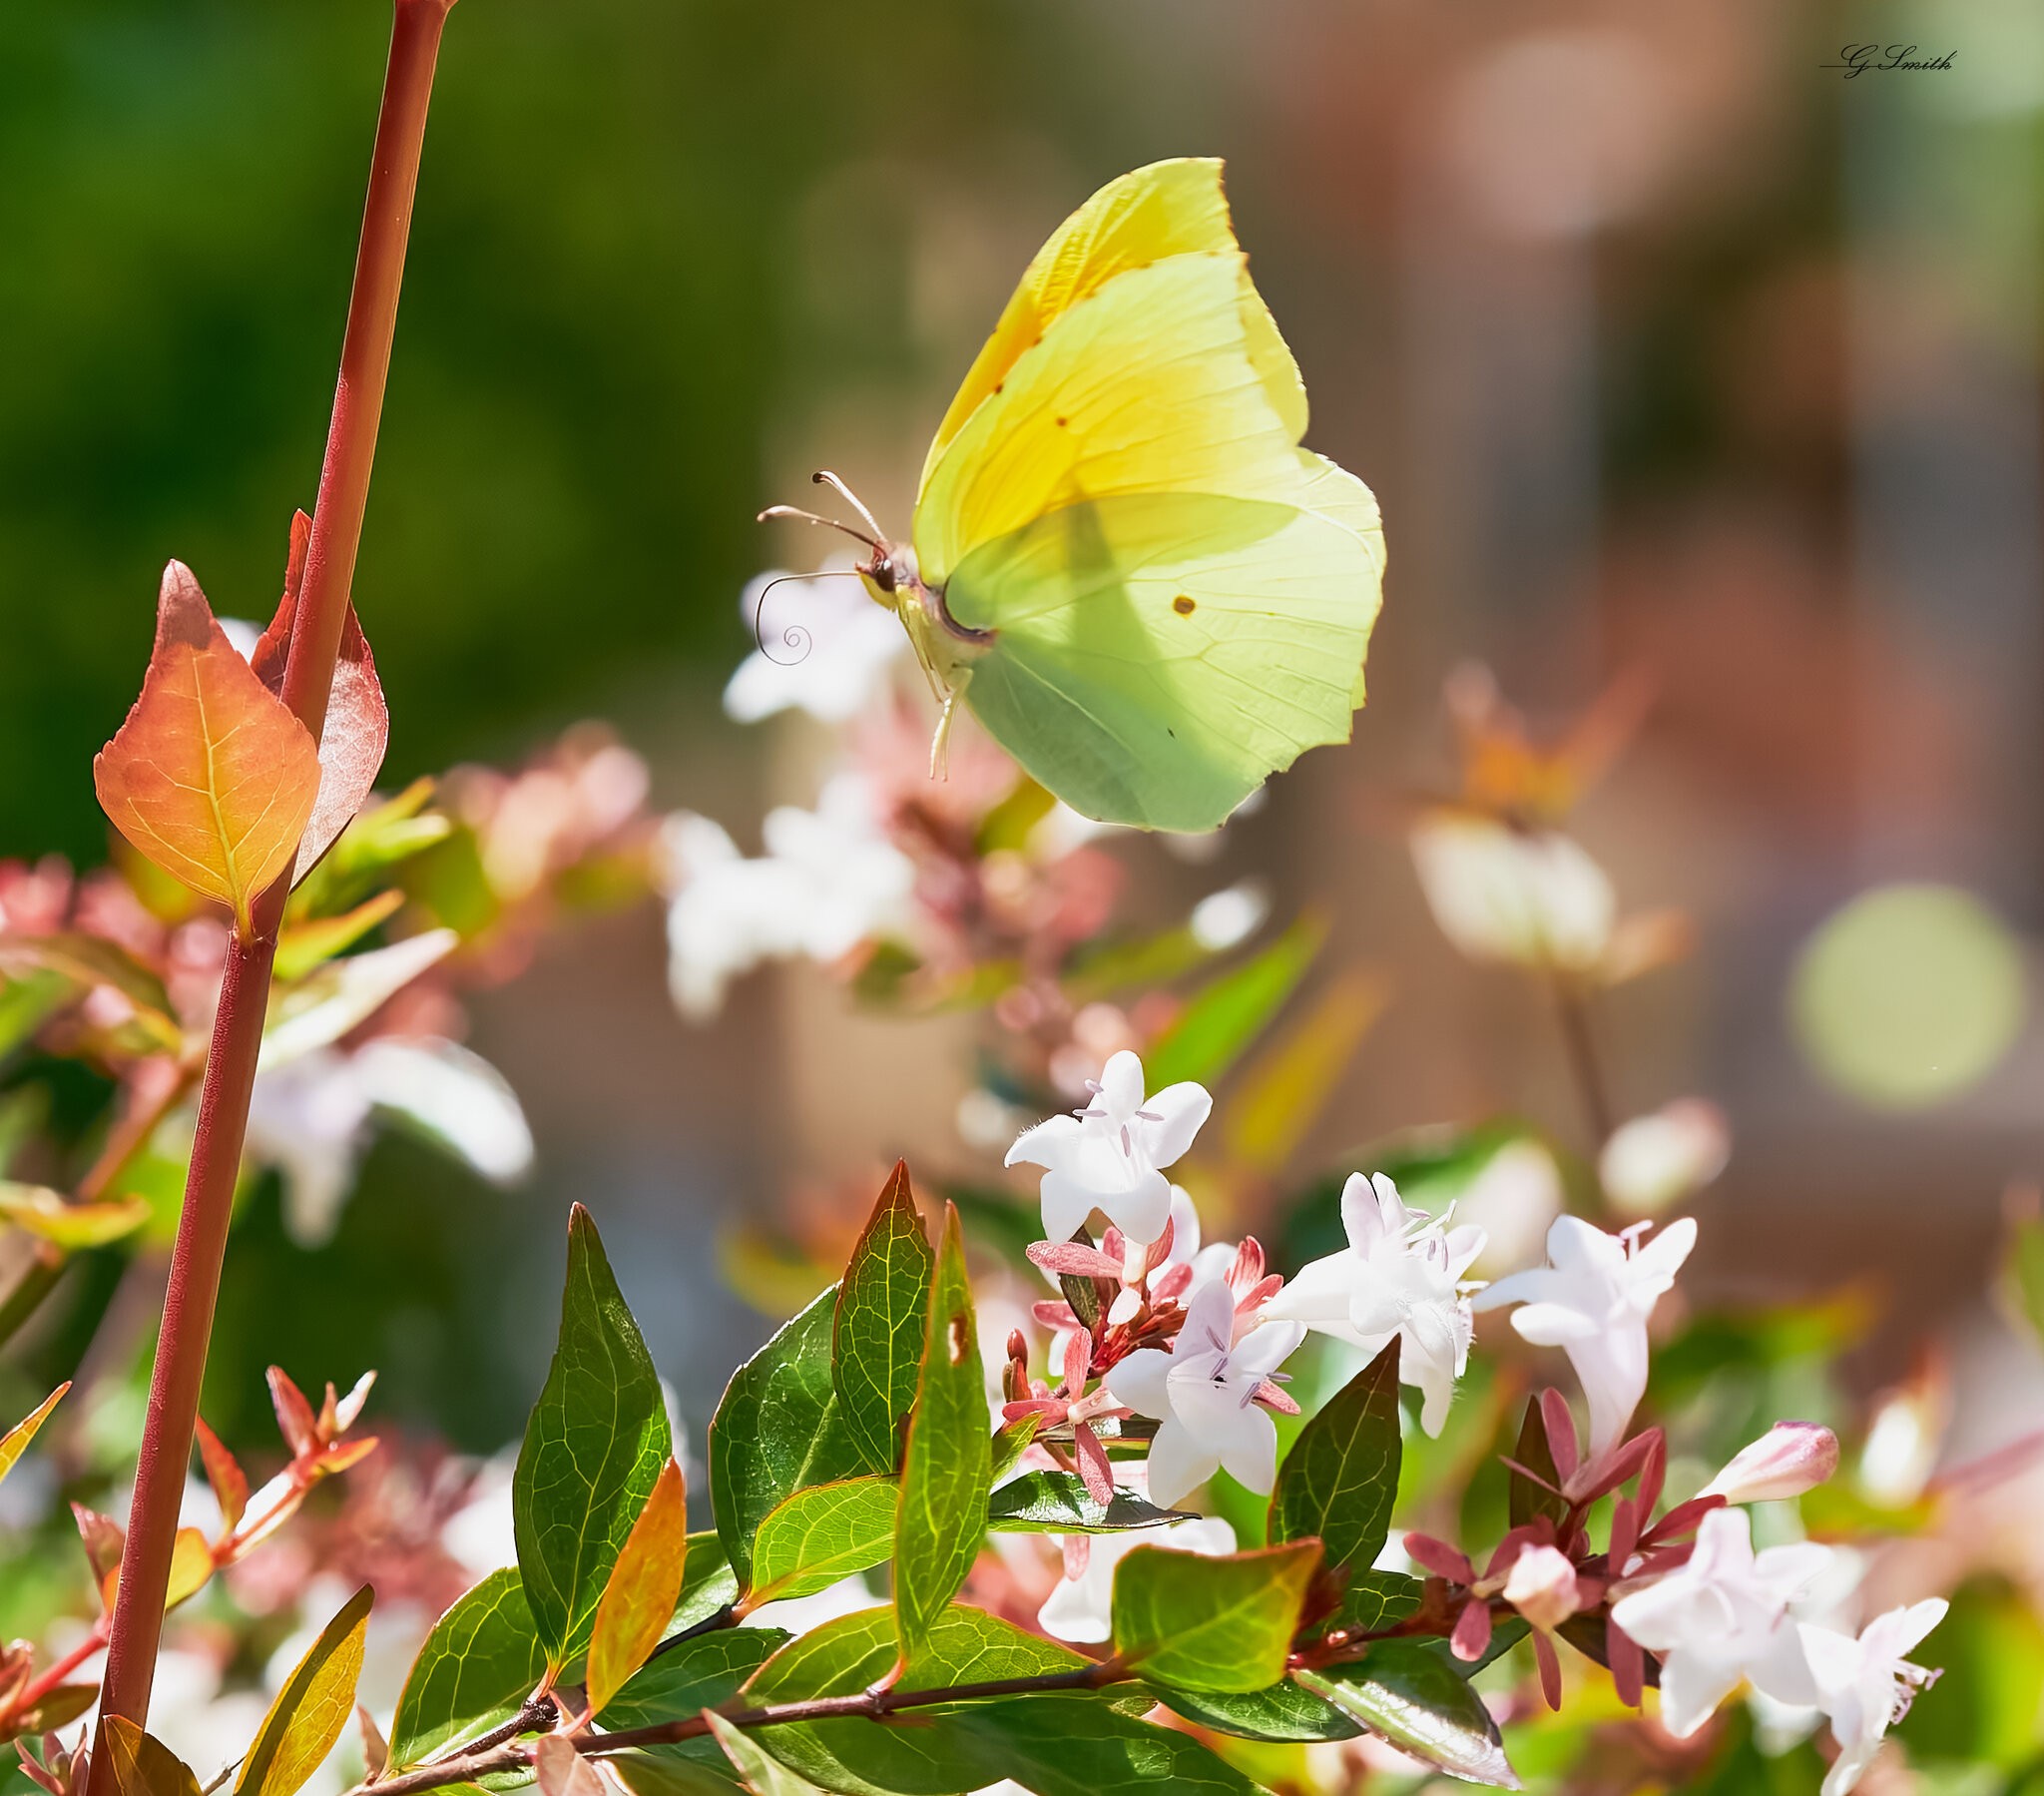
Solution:
M 1611 947 L 1617 894 L 1566 835 L 1433 810 L 1410 847 L 1433 921 L 1470 959 L 1590 972 Z

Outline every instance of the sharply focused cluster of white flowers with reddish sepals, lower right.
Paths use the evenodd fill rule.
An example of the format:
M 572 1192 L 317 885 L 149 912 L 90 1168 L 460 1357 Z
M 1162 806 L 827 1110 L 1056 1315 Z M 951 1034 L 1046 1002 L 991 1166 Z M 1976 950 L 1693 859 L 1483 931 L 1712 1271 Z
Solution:
M 1404 1555 L 1425 1575 L 1419 1614 L 1394 1632 L 1445 1634 L 1466 1663 L 1486 1657 L 1502 1618 L 1527 1626 L 1547 1702 L 1560 1708 L 1555 1643 L 1609 1665 L 1633 1706 L 1660 1686 L 1664 1726 L 1684 1739 L 1741 1686 L 1774 1704 L 1823 1716 L 1838 1743 L 1825 1796 L 1844 1796 L 1889 1724 L 1934 1673 L 1905 1655 L 1946 1606 L 1919 1602 L 1838 1632 L 1803 1598 L 1827 1571 L 1850 1571 L 1815 1542 L 1752 1544 L 1744 1506 L 1803 1495 L 1838 1469 L 1838 1440 L 1805 1422 L 1776 1424 L 1697 1495 L 1664 1506 L 1668 1442 L 1633 1432 L 1647 1389 L 1650 1321 L 1697 1242 L 1697 1225 L 1635 1223 L 1619 1233 L 1564 1215 L 1547 1262 L 1494 1285 L 1464 1278 L 1484 1231 L 1412 1209 L 1384 1174 L 1341 1193 L 1347 1248 L 1290 1281 L 1265 1268 L 1255 1240 L 1202 1246 L 1200 1223 L 1169 1168 L 1194 1146 L 1210 1101 L 1196 1084 L 1145 1090 L 1134 1053 L 1116 1053 L 1089 1103 L 1022 1133 L 1008 1164 L 1042 1168 L 1049 1240 L 1030 1260 L 1061 1287 L 1038 1301 L 1053 1332 L 1059 1383 L 1028 1373 L 1020 1332 L 1008 1342 L 1004 1420 L 1032 1418 L 1026 1463 L 1075 1471 L 1096 1501 L 1116 1497 L 1110 1446 L 1145 1442 L 1124 1477 L 1147 1479 L 1153 1503 L 1177 1506 L 1216 1473 L 1269 1493 L 1278 1475 L 1273 1413 L 1298 1413 L 1282 1366 L 1308 1332 L 1374 1358 L 1394 1342 L 1398 1377 L 1421 1393 L 1421 1426 L 1439 1434 L 1466 1371 L 1474 1317 L 1511 1307 L 1531 1346 L 1562 1348 L 1588 1407 L 1588 1436 L 1560 1391 L 1541 1391 L 1519 1458 L 1513 1526 L 1478 1563 L 1410 1532 Z M 1106 1219 L 1096 1244 L 1089 1223 Z M 1594 1528 L 1592 1516 L 1609 1510 Z M 1233 1551 L 1224 1522 L 1181 1518 L 1169 1544 Z M 1106 1636 L 1108 1567 L 1128 1551 L 1067 1536 L 1065 1577 L 1040 1624 L 1073 1641 Z M 1836 1583 L 1836 1577 L 1829 1579 Z M 1836 1596 L 1836 1591 L 1833 1591 Z M 1335 1626 L 1310 1663 L 1363 1651 L 1369 1630 Z

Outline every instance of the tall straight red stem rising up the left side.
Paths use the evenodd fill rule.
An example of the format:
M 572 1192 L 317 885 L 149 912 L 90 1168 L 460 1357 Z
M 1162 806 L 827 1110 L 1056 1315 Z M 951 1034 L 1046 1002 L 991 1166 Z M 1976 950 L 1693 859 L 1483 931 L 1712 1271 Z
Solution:
M 362 511 L 376 458 L 376 425 L 390 372 L 390 338 L 397 329 L 411 200 L 419 182 L 425 108 L 433 92 L 439 31 L 452 4 L 454 0 L 397 0 L 390 33 L 390 65 L 384 74 L 370 192 L 362 215 L 362 248 L 356 256 L 356 284 L 341 342 L 341 378 L 333 395 L 313 540 L 307 548 L 305 585 L 284 667 L 284 702 L 315 740 L 327 718 L 333 657 L 347 618 Z M 206 1078 L 198 1094 L 198 1131 L 192 1139 L 184 1213 L 178 1219 L 178 1244 L 170 1262 L 164 1330 L 149 1379 L 135 1506 L 127 1548 L 121 1555 L 121 1587 L 114 1596 L 106 1683 L 100 1698 L 102 1714 L 121 1714 L 137 1724 L 149 1716 L 149 1686 L 164 1632 L 164 1593 L 170 1587 L 178 1506 L 192 1461 L 192 1422 L 198 1416 L 198 1387 L 206 1371 L 206 1340 L 213 1332 L 227 1221 L 247 1131 L 249 1088 L 256 1082 L 256 1056 L 262 1049 L 264 1013 L 270 1002 L 270 961 L 288 896 L 286 869 L 256 900 L 249 939 L 237 939 L 229 949 Z M 108 1763 L 104 1753 L 92 1755 L 90 1796 L 112 1796 L 110 1782 L 100 1773 L 104 1763 Z

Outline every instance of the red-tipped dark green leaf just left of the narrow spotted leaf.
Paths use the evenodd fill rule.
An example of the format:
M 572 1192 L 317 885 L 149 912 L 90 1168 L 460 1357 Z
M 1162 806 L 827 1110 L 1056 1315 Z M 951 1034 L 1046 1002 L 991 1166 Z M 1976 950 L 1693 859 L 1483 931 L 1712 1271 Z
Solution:
M 838 1416 L 867 1471 L 893 1471 L 901 1463 L 901 1424 L 916 1401 L 934 1264 L 908 1162 L 897 1160 L 844 1268 L 830 1336 Z

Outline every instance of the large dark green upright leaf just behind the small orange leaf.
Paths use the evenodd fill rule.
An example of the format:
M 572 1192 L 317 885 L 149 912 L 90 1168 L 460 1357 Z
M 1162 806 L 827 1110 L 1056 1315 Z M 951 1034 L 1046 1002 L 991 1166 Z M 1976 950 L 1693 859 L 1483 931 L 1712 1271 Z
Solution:
M 589 1645 L 611 1567 L 668 1452 L 660 1379 L 597 1225 L 574 1205 L 560 1344 L 511 1481 L 525 1602 L 556 1671 Z

